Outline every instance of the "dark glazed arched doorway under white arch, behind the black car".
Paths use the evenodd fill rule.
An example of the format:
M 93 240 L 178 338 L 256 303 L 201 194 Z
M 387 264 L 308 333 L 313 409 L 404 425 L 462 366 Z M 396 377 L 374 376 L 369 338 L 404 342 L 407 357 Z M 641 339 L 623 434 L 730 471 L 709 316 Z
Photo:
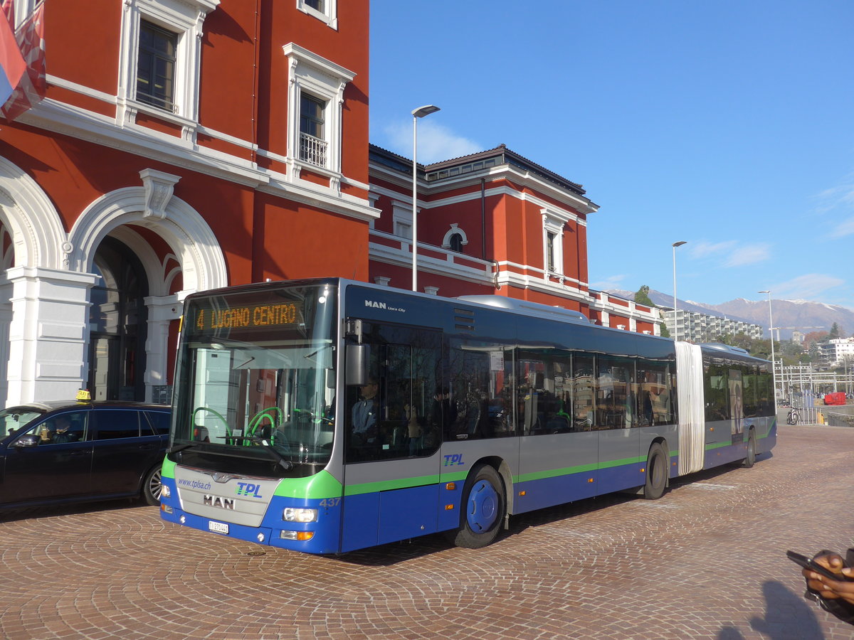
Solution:
M 93 400 L 145 399 L 144 298 L 149 282 L 136 254 L 115 238 L 104 238 L 92 271 L 101 276 L 91 289 L 89 379 Z

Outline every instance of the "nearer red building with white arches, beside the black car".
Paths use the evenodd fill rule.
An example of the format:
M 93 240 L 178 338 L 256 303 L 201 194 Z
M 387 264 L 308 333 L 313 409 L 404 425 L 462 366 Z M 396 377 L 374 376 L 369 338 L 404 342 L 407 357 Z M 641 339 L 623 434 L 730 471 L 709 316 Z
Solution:
M 47 94 L 0 120 L 5 404 L 163 399 L 187 294 L 367 277 L 367 33 L 368 0 L 45 4 Z

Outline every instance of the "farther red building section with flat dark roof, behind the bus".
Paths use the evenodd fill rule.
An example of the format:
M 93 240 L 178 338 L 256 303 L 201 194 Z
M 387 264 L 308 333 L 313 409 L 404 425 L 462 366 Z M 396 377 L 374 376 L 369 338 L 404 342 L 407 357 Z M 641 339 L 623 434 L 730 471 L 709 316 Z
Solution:
M 412 160 L 371 146 L 373 282 L 412 286 Z M 581 311 L 605 327 L 658 335 L 658 311 L 592 291 L 580 184 L 504 145 L 418 166 L 418 290 L 498 294 Z

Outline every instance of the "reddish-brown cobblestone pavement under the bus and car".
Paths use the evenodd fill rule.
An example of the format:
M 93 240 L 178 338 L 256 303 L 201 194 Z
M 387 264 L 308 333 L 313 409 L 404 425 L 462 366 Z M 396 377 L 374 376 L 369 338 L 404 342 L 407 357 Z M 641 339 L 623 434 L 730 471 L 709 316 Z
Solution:
M 785 552 L 854 544 L 852 449 L 852 428 L 783 425 L 753 468 L 515 516 L 483 550 L 430 536 L 304 556 L 128 503 L 0 515 L 0 635 L 851 638 Z

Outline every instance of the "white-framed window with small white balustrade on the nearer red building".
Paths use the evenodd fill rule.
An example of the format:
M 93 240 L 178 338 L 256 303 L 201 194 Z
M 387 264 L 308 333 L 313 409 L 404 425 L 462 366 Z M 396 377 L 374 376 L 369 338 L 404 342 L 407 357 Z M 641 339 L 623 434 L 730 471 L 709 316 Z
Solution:
M 355 73 L 302 48 L 285 44 L 288 56 L 288 157 L 302 165 L 341 172 L 344 89 Z

